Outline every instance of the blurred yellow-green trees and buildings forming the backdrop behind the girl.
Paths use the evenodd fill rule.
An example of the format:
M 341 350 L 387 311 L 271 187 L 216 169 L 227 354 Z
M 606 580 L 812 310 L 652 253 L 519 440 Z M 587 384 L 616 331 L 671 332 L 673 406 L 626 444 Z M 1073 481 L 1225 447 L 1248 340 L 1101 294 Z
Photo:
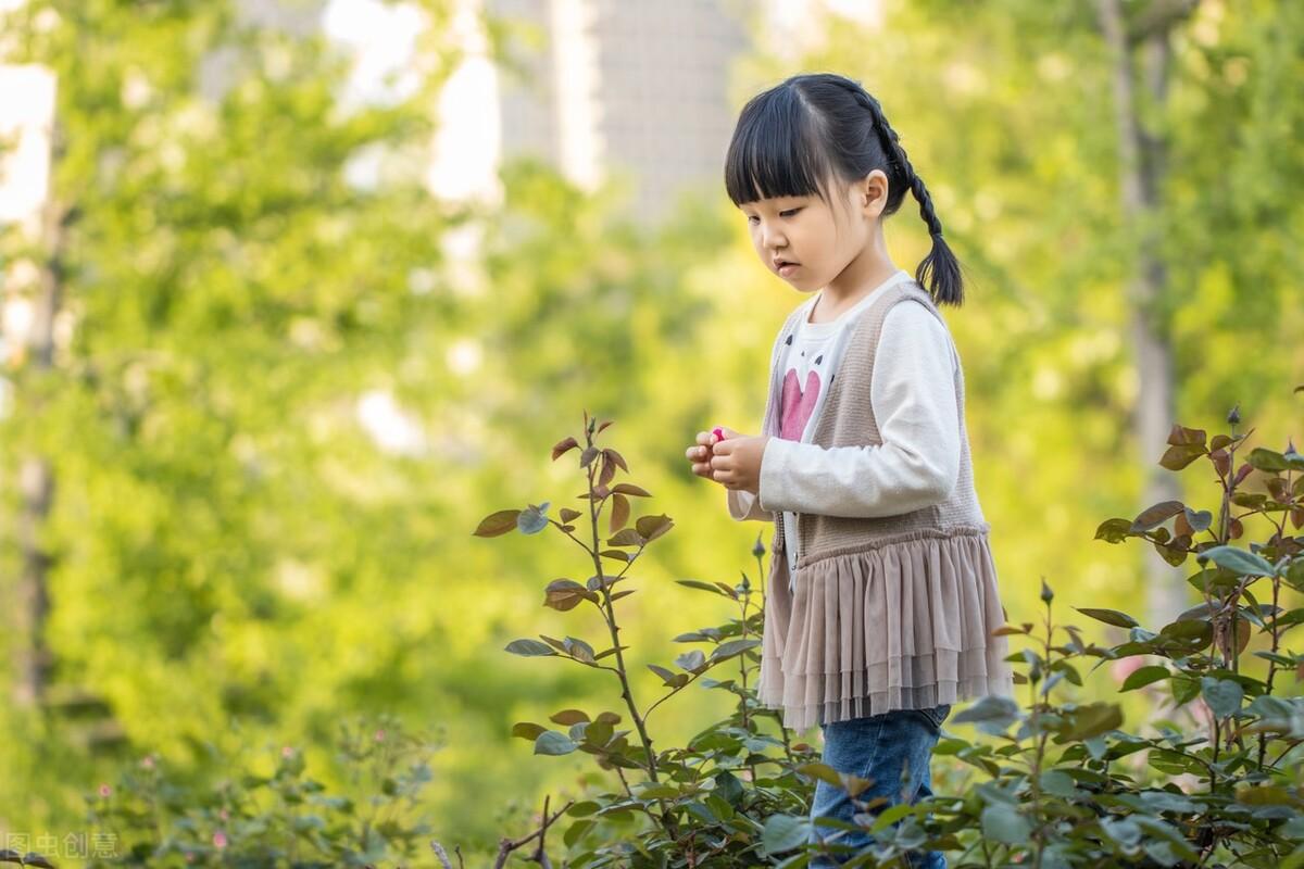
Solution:
M 882 100 L 966 268 L 944 315 L 1012 621 L 1043 577 L 1061 615 L 1171 620 L 1193 568 L 1097 525 L 1215 507 L 1206 472 L 1157 465 L 1175 422 L 1226 431 L 1239 405 L 1252 444 L 1301 434 L 1297 3 L 0 12 L 0 831 L 81 829 L 83 795 L 149 753 L 202 770 L 206 744 L 288 744 L 330 770 L 369 711 L 439 735 L 426 808 L 466 847 L 589 780 L 511 726 L 617 689 L 503 651 L 597 633 L 540 606 L 582 554 L 472 530 L 576 506 L 549 451 L 587 410 L 638 507 L 675 520 L 625 605 L 636 688 L 729 615 L 675 578 L 756 581 L 769 526 L 730 520 L 683 451 L 759 429 L 803 298 L 722 185 L 742 104 L 797 72 Z M 925 255 L 910 199 L 888 241 Z M 672 702 L 662 743 L 729 709 Z

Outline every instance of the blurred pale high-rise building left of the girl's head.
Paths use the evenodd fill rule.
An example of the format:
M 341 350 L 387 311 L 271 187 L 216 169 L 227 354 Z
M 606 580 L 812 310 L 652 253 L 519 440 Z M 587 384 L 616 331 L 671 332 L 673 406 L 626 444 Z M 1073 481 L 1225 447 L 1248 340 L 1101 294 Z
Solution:
M 626 173 L 635 215 L 689 185 L 717 185 L 735 112 L 729 69 L 748 47 L 722 0 L 485 0 L 535 27 L 499 74 L 502 155 L 532 152 L 578 184 Z M 515 60 L 515 57 L 512 59 Z

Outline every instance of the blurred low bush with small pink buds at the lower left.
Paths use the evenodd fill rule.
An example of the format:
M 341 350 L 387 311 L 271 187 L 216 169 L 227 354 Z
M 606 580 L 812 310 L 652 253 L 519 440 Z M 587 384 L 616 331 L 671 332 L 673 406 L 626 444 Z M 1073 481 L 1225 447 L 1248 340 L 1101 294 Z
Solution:
M 422 791 L 436 745 L 393 717 L 340 722 L 334 750 L 351 778 L 331 792 L 303 749 L 244 766 L 215 745 L 209 771 L 181 776 L 154 754 L 86 797 L 87 819 L 116 834 L 90 866 L 366 866 L 425 852 Z M 214 776 L 211 773 L 220 773 Z

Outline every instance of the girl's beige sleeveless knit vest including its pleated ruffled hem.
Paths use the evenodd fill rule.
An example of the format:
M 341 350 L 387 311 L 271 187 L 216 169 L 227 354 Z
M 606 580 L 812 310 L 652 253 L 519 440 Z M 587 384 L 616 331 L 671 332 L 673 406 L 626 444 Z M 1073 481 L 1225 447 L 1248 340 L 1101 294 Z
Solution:
M 882 443 L 870 383 L 883 319 L 893 305 L 915 302 L 941 319 L 913 281 L 875 292 L 882 296 L 848 324 L 854 331 L 829 378 L 816 444 Z M 778 349 L 806 310 L 802 305 L 788 318 L 775 343 L 763 426 L 771 436 L 778 434 Z M 784 554 L 784 513 L 775 513 L 758 698 L 782 709 L 788 727 L 801 731 L 1013 693 L 1008 642 L 995 633 L 1005 612 L 988 525 L 974 494 L 958 370 L 955 378 L 962 459 L 958 482 L 944 502 L 875 519 L 798 513 L 793 577 Z

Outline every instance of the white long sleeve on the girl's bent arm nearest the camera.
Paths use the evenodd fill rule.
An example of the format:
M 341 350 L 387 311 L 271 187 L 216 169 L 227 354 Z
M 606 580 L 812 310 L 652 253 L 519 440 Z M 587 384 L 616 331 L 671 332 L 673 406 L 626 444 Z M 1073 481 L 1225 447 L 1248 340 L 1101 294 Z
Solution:
M 960 477 L 958 360 L 922 305 L 895 305 L 874 357 L 870 400 L 882 444 L 831 447 L 771 438 L 756 503 L 824 516 L 895 516 L 949 496 Z

